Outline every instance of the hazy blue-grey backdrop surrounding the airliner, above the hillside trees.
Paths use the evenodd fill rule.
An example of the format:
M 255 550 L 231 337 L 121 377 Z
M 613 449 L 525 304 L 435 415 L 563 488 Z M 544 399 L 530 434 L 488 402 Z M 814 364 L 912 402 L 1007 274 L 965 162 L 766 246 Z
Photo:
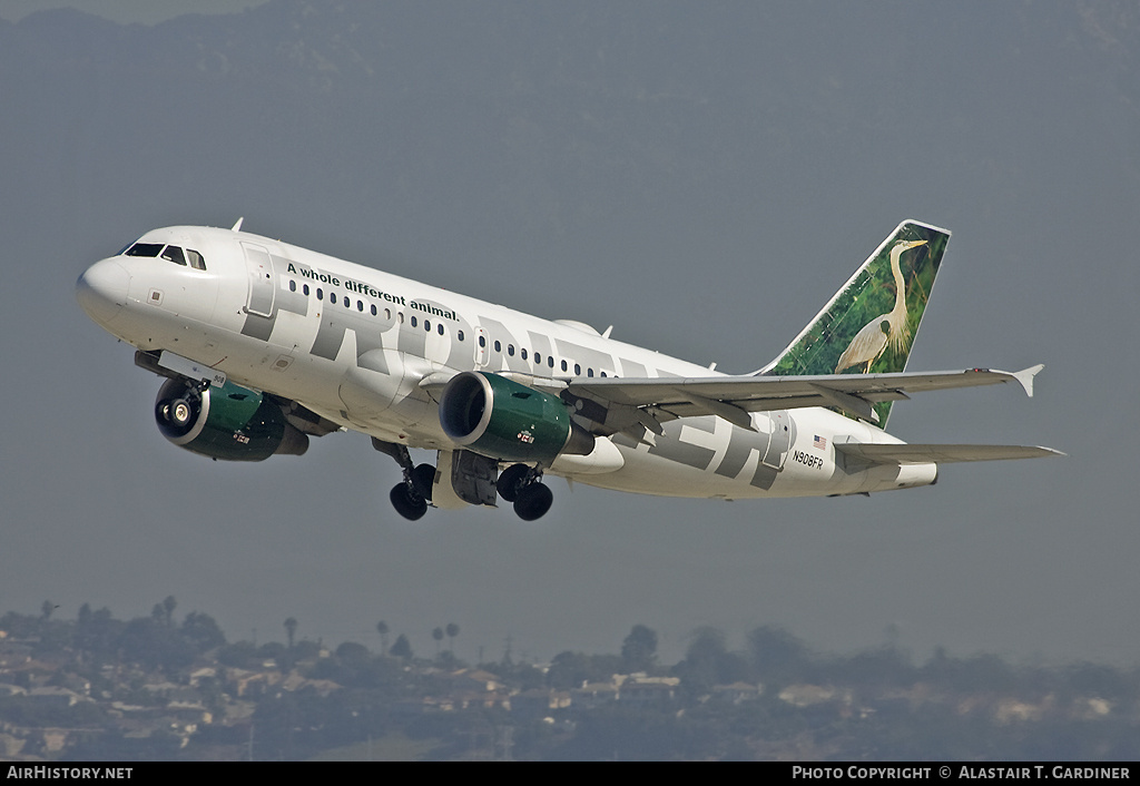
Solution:
M 149 3 L 148 3 L 149 5 Z M 108 3 L 109 7 L 109 3 Z M 179 3 L 179 8 L 188 8 Z M 6 18 L 25 10 L 2 6 Z M 95 8 L 93 3 L 91 8 Z M 123 18 L 123 17 L 119 17 Z M 1131 2 L 272 0 L 120 27 L 0 23 L 0 610 L 145 615 L 458 655 L 676 658 L 700 625 L 852 651 L 1140 661 L 1140 19 Z M 911 441 L 1041 444 L 870 499 L 569 489 L 399 519 L 360 435 L 210 462 L 74 301 L 155 226 L 245 228 L 727 372 L 902 219 L 953 230 L 911 370 L 1044 363 L 895 406 Z M 421 459 L 426 459 L 426 455 Z

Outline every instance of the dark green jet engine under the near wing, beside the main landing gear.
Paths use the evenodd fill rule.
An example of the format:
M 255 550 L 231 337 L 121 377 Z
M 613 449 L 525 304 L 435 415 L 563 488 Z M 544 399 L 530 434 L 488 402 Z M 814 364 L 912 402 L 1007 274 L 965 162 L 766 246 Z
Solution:
M 594 436 L 570 420 L 561 398 L 483 371 L 447 383 L 439 421 L 457 445 L 498 461 L 548 465 L 559 454 L 594 449 Z

